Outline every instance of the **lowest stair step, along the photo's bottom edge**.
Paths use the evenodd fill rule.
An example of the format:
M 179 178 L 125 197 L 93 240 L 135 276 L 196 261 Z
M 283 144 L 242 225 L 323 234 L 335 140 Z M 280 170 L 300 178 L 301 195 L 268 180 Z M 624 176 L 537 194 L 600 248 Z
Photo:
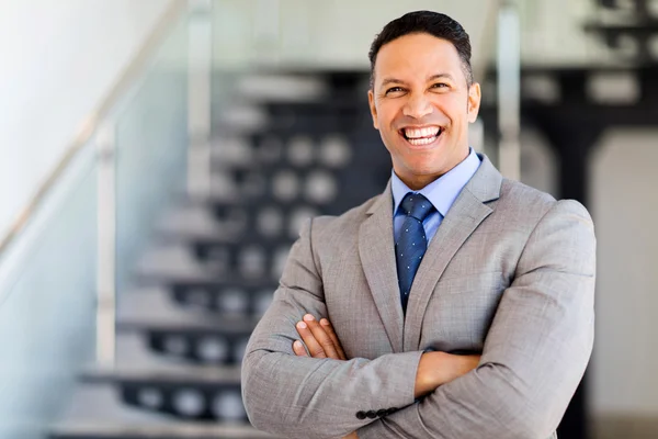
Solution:
M 258 439 L 274 438 L 245 425 L 200 423 L 98 424 L 66 423 L 50 429 L 50 439 Z

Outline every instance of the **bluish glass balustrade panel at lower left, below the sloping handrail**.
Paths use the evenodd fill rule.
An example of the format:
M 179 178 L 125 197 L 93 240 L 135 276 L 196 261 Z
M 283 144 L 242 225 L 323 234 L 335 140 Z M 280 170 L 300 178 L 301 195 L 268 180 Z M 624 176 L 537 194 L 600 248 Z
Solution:
M 42 437 L 79 364 L 93 359 L 97 172 L 87 156 L 0 291 L 0 438 Z

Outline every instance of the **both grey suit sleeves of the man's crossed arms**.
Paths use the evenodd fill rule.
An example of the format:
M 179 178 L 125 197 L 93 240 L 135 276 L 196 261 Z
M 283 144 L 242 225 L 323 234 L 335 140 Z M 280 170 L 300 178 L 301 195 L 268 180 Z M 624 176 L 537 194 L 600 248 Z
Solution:
M 557 202 L 544 215 L 502 294 L 477 368 L 420 402 L 417 376 L 429 354 L 295 354 L 295 325 L 306 314 L 328 315 L 311 240 L 309 223 L 247 347 L 242 393 L 257 428 L 291 438 L 356 431 L 360 438 L 544 439 L 555 430 L 593 342 L 595 241 L 582 206 Z M 401 409 L 378 419 L 355 416 L 390 407 Z

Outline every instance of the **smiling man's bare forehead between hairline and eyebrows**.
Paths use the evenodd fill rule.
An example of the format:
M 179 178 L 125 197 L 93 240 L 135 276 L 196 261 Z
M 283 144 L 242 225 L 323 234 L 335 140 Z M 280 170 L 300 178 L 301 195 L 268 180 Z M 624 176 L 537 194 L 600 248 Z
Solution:
M 438 72 L 449 72 L 457 78 L 463 75 L 462 60 L 454 44 L 426 33 L 409 34 L 386 43 L 375 63 L 377 82 L 389 76 L 412 80 Z

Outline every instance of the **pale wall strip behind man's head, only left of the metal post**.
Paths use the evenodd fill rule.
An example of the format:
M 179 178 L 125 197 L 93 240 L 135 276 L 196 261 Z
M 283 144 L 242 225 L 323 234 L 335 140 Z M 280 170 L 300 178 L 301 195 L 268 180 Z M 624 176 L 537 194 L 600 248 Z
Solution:
M 406 12 L 444 12 L 464 25 L 474 60 L 484 49 L 492 0 L 215 0 L 218 67 L 270 64 L 367 69 L 367 52 L 384 25 Z M 477 13 L 473 13 L 477 11 Z

